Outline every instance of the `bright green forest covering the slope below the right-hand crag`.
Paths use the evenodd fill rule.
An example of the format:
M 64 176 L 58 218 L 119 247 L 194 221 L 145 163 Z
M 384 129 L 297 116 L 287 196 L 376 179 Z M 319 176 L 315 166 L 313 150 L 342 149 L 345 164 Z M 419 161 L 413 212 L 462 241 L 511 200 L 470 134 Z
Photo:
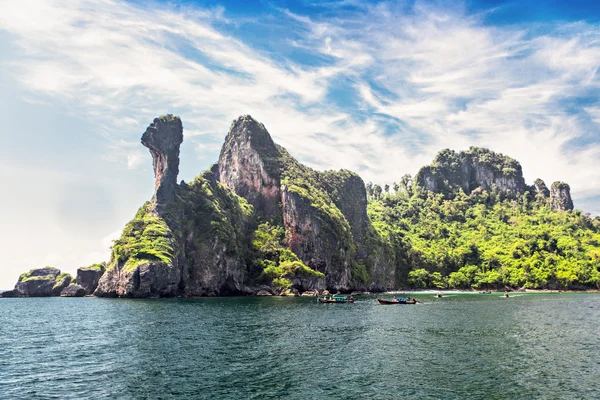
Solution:
M 398 192 L 371 200 L 368 213 L 405 255 L 415 288 L 600 288 L 600 220 L 533 198 Z

